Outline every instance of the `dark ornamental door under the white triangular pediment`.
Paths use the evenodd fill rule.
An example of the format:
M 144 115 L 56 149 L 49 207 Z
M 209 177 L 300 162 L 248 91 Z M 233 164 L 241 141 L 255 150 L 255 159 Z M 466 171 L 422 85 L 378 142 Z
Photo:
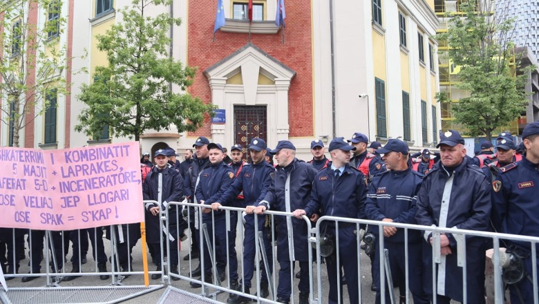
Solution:
M 267 142 L 266 106 L 234 106 L 234 144 L 243 146 L 243 158 L 247 160 L 247 146 L 254 137 Z

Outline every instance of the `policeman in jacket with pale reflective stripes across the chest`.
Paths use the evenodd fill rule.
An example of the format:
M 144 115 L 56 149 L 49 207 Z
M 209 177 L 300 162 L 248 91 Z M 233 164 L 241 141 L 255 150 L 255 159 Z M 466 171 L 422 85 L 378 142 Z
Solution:
M 376 175 L 372 179 L 367 200 L 365 213 L 369 220 L 381 220 L 382 222 L 401 222 L 416 224 L 415 201 L 417 191 L 421 187 L 421 173 L 417 173 L 408 167 L 408 146 L 401 140 L 389 140 L 384 148 L 378 149 L 383 154 L 382 160 L 386 163 L 388 171 Z M 372 232 L 379 238 L 378 229 Z M 401 301 L 406 302 L 406 281 L 410 286 L 414 303 L 430 303 L 422 289 L 422 239 L 419 230 L 408 230 L 408 277 L 406 277 L 406 258 L 404 244 L 404 229 L 384 227 L 384 245 L 389 250 L 389 265 L 393 282 L 399 286 Z M 375 251 L 375 272 L 380 272 L 380 250 Z M 386 274 L 387 275 L 387 274 Z M 380 280 L 377 276 L 376 303 L 381 301 Z M 389 292 L 386 287 L 386 303 L 389 303 Z

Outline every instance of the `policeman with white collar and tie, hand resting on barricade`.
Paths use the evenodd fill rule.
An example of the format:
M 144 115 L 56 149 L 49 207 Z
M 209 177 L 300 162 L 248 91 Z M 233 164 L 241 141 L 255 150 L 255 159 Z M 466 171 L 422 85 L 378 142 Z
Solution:
M 350 151 L 356 148 L 350 146 L 343 137 L 336 137 L 330 142 L 329 150 L 332 165 L 316 173 L 312 183 L 311 199 L 304 209 L 294 211 L 294 216 L 301 218 L 302 215 L 316 220 L 316 213 L 321 212 L 321 216 L 340 216 L 343 218 L 365 218 L 365 200 L 367 187 L 365 176 L 354 167 L 350 167 Z M 337 288 L 337 280 L 341 276 L 337 275 L 337 269 L 344 267 L 344 275 L 348 282 L 348 296 L 350 303 L 361 303 L 359 301 L 358 283 L 358 244 L 355 235 L 356 225 L 339 224 L 339 261 L 337 265 L 337 250 L 331 256 L 325 258 L 328 267 L 328 278 L 330 281 L 330 292 L 328 303 L 334 304 L 338 301 L 341 289 Z M 333 222 L 326 222 L 321 231 L 335 237 L 335 225 Z M 334 240 L 334 244 L 335 240 Z

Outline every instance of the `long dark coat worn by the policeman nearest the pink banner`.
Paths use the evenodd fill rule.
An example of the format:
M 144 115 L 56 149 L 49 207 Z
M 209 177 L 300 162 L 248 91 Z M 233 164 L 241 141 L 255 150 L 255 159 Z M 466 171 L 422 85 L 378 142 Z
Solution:
M 166 167 L 162 171 L 162 195 L 161 195 L 161 210 L 165 210 L 164 202 L 178 202 L 182 197 L 182 175 L 177 171 Z M 150 173 L 146 175 L 146 180 L 142 184 L 142 195 L 144 200 L 156 200 L 158 201 L 158 183 L 159 183 L 159 171 L 158 167 L 154 166 Z M 145 218 L 146 218 L 146 236 L 148 243 L 159 243 L 159 216 L 153 216 L 149 209 L 155 207 L 156 204 L 146 204 Z M 185 226 L 185 220 L 180 215 L 176 216 L 176 207 L 169 209 L 169 230 L 171 234 L 176 234 L 176 225 L 181 227 Z M 177 219 L 180 218 L 180 222 Z M 185 227 L 184 227 L 185 229 Z M 180 229 L 183 231 L 183 229 Z M 176 238 L 176 236 L 175 236 Z

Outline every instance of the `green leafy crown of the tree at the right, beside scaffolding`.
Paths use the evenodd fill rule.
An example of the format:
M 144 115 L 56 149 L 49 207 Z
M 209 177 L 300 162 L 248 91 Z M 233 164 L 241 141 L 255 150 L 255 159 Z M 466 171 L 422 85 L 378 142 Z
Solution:
M 478 3 L 477 6 L 475 3 Z M 448 59 L 460 66 L 455 84 L 468 97 L 453 104 L 453 117 L 471 136 L 486 135 L 507 126 L 525 111 L 527 73 L 518 74 L 520 54 L 510 40 L 514 19 L 493 15 L 491 1 L 462 1 L 462 15 L 451 16 L 448 31 L 437 39 L 448 41 Z M 437 95 L 439 102 L 451 98 Z

